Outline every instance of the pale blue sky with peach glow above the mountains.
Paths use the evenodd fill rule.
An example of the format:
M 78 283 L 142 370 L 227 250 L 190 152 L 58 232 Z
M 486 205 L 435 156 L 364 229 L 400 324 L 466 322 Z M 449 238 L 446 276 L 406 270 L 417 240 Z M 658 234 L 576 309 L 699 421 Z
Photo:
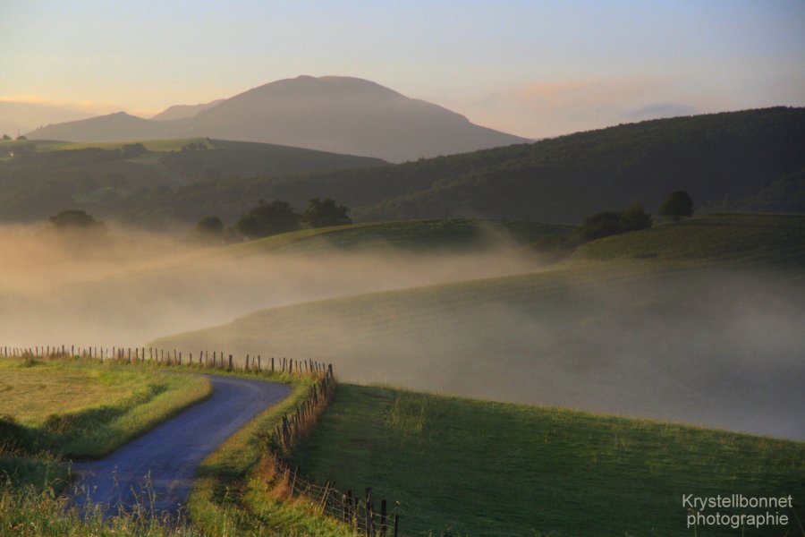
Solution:
M 805 106 L 805 0 L 3 0 L 0 39 L 0 100 L 91 114 L 148 117 L 300 74 L 376 81 L 530 138 Z

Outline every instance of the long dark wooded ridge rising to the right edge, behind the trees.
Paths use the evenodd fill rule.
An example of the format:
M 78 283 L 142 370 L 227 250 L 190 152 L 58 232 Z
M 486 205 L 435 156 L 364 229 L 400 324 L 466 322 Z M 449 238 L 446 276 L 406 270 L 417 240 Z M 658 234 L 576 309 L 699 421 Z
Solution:
M 334 197 L 356 220 L 478 217 L 578 223 L 639 202 L 656 211 L 686 190 L 697 208 L 758 195 L 805 166 L 805 108 L 769 108 L 625 124 L 384 168 L 209 180 L 131 208 L 203 205 L 229 221 L 253 200 L 304 208 Z M 764 210 L 788 210 L 767 203 Z M 136 200 L 132 200 L 136 201 Z M 156 206 L 153 205 L 156 203 Z

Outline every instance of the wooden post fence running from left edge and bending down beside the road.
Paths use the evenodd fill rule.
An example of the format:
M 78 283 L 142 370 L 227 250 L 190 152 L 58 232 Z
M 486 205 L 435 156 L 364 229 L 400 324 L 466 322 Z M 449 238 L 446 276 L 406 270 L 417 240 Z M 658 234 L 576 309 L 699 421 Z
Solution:
M 318 416 L 324 412 L 327 403 L 335 393 L 335 376 L 333 365 L 313 360 L 292 360 L 274 357 L 263 359 L 260 354 L 245 359 L 235 359 L 233 354 L 220 351 L 201 351 L 193 357 L 192 353 L 183 355 L 176 349 L 154 347 L 104 347 L 76 345 L 44 345 L 34 347 L 3 346 L 0 353 L 4 356 L 17 358 L 64 358 L 85 357 L 94 358 L 101 362 L 114 361 L 123 363 L 150 362 L 165 365 L 194 365 L 197 367 L 218 368 L 225 370 L 241 369 L 243 371 L 266 371 L 288 374 L 313 375 L 317 378 L 307 396 L 295 410 L 282 416 L 279 425 L 275 427 L 264 440 L 267 443 L 267 457 L 261 462 L 270 465 L 268 474 L 275 478 L 274 486 L 284 491 L 285 497 L 307 501 L 318 513 L 330 516 L 345 524 L 350 524 L 352 530 L 368 537 L 398 537 L 400 532 L 400 516 L 388 512 L 388 502 L 380 501 L 380 509 L 375 508 L 371 489 L 364 490 L 362 496 L 352 493 L 352 490 L 343 492 L 335 488 L 334 482 L 318 484 L 304 479 L 298 467 L 291 467 L 285 461 L 291 454 L 293 445 L 302 439 L 310 430 Z

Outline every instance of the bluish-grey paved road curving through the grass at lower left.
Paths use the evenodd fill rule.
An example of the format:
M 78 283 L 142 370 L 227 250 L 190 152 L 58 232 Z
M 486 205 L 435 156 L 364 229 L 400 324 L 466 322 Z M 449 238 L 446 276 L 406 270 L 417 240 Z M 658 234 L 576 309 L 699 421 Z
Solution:
M 89 499 L 114 514 L 118 505 L 128 509 L 140 496 L 144 507 L 177 514 L 201 461 L 254 416 L 291 393 L 287 385 L 263 380 L 215 375 L 208 379 L 213 393 L 206 401 L 157 425 L 104 459 L 72 465 L 73 472 L 81 476 L 74 502 L 82 505 Z

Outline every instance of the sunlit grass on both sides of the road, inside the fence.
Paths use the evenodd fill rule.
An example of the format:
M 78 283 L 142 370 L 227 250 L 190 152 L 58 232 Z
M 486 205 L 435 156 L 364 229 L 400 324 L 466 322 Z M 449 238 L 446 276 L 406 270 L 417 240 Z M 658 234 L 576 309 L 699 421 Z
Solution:
M 258 474 L 267 432 L 308 396 L 313 380 L 284 373 L 210 371 L 180 366 L 101 364 L 89 359 L 0 358 L 0 536 L 5 535 L 351 535 L 318 516 L 305 499 L 279 501 Z M 71 507 L 62 495 L 69 480 L 64 456 L 102 456 L 184 405 L 208 394 L 191 373 L 233 375 L 290 383 L 292 396 L 258 415 L 209 456 L 189 499 L 191 524 L 132 513 L 103 517 L 99 507 Z M 102 405 L 97 401 L 103 400 Z M 51 410 L 42 408 L 46 403 Z M 21 447 L 22 445 L 22 447 Z

